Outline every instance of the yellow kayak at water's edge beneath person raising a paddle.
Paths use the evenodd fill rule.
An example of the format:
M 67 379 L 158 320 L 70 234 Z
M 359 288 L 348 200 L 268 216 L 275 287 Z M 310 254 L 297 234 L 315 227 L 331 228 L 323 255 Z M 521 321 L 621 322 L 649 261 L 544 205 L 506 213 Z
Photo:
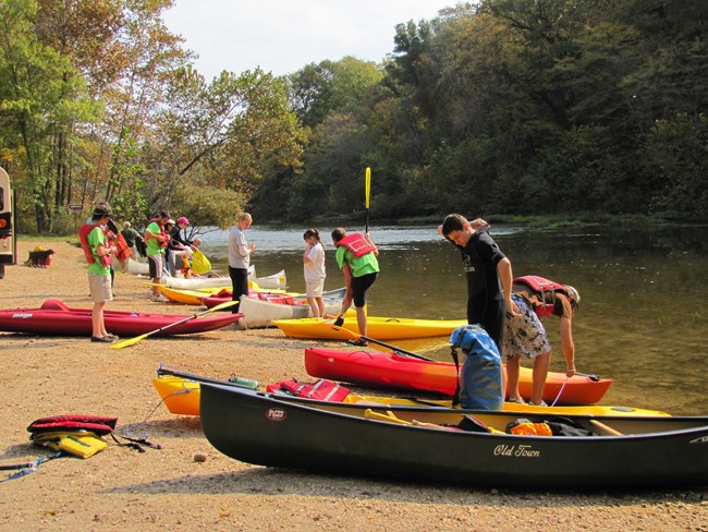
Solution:
M 310 317 L 301 319 L 276 319 L 273 321 L 273 325 L 277 325 L 280 330 L 292 338 L 313 338 L 320 340 L 351 340 L 358 338 L 356 319 L 345 319 L 341 328 L 334 327 L 332 322 L 332 319 Z M 382 341 L 430 338 L 448 336 L 463 325 L 467 325 L 466 319 L 415 319 L 368 316 L 366 336 Z

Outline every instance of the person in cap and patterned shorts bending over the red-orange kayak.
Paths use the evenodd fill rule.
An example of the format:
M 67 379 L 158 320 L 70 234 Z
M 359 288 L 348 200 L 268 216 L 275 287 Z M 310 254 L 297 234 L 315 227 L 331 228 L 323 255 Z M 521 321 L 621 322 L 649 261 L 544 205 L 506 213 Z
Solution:
M 512 301 L 521 315 L 508 316 L 505 323 L 502 352 L 506 359 L 509 401 L 524 402 L 518 395 L 518 372 L 521 358 L 525 356 L 534 361 L 532 403 L 545 404 L 542 394 L 551 360 L 551 344 L 540 318 L 551 315 L 559 317 L 565 375 L 572 377 L 577 373 L 573 317 L 581 295 L 570 285 L 539 276 L 525 276 L 514 279 Z

